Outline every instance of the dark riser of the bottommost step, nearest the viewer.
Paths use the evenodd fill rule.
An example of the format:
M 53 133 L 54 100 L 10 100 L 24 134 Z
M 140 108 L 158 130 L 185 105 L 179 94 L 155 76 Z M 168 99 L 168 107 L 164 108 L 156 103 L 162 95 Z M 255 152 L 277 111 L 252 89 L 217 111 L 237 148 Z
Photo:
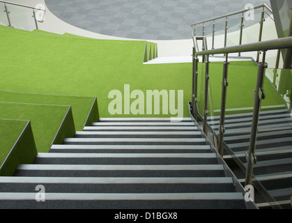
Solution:
M 23 209 L 230 209 L 245 208 L 244 200 L 167 200 L 167 201 L 1 201 L 0 208 Z

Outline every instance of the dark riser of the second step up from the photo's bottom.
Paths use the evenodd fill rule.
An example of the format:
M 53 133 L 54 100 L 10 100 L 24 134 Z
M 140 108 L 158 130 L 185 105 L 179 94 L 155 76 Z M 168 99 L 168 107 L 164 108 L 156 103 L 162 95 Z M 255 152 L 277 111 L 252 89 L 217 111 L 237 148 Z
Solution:
M 1 192 L 36 192 L 43 185 L 49 193 L 190 193 L 233 191 L 231 183 L 153 183 L 153 184 L 47 184 L 47 183 L 0 183 Z

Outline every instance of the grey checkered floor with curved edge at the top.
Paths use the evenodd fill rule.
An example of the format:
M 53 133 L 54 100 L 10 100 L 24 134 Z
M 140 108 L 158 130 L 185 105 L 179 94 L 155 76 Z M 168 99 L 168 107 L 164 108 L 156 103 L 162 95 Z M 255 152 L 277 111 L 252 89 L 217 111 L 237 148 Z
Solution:
M 88 31 L 122 38 L 191 38 L 190 24 L 257 6 L 269 0 L 45 0 L 61 20 Z

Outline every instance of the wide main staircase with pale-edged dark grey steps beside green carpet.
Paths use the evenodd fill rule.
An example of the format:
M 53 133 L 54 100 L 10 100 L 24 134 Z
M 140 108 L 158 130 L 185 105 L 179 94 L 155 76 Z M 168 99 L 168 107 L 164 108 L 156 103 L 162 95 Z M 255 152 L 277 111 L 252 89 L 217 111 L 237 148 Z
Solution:
M 0 208 L 246 208 L 218 159 L 190 118 L 100 118 L 0 177 Z

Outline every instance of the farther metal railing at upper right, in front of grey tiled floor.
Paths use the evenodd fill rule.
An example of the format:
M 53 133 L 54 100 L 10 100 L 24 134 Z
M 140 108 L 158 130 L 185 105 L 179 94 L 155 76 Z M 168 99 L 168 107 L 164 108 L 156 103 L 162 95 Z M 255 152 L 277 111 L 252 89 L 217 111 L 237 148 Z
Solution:
M 221 19 L 224 19 L 225 18 L 225 22 L 224 22 L 224 47 L 226 47 L 226 44 L 227 44 L 227 30 L 228 30 L 228 22 L 229 22 L 229 17 L 233 16 L 233 15 L 241 15 L 240 17 L 240 35 L 239 35 L 239 43 L 238 45 L 241 45 L 242 44 L 242 41 L 243 41 L 243 21 L 244 21 L 244 17 L 245 17 L 245 13 L 247 13 L 249 10 L 256 10 L 256 9 L 262 9 L 261 10 L 261 19 L 259 21 L 259 42 L 261 42 L 261 38 L 262 38 L 262 33 L 263 33 L 263 22 L 265 21 L 265 13 L 268 15 L 268 13 L 271 13 L 272 14 L 272 9 L 270 7 L 268 7 L 266 5 L 266 3 L 263 3 L 259 6 L 254 6 L 254 8 L 247 8 L 245 10 L 239 10 L 235 13 L 229 13 L 229 14 L 226 14 L 226 15 L 222 15 L 222 16 L 219 16 L 219 17 L 214 17 L 213 19 L 210 19 L 210 20 L 205 20 L 205 21 L 202 21 L 202 22 L 197 22 L 197 23 L 194 23 L 194 24 L 191 24 L 191 31 L 192 31 L 192 39 L 194 41 L 194 37 L 197 36 L 197 33 L 196 33 L 196 29 L 197 29 L 197 26 L 198 25 L 201 25 L 202 26 L 202 33 L 200 36 L 206 36 L 206 23 L 208 22 L 213 22 L 213 27 L 212 27 L 212 48 L 211 49 L 214 49 L 214 43 L 215 43 L 215 26 L 216 26 L 216 21 L 217 20 L 221 20 Z M 268 13 L 267 13 L 268 11 Z M 270 15 L 268 15 L 270 17 Z M 194 44 L 195 44 L 195 41 L 194 41 Z M 238 52 L 238 56 L 240 56 L 240 52 Z M 259 53 L 257 54 L 257 59 L 256 59 L 256 62 L 259 62 Z

